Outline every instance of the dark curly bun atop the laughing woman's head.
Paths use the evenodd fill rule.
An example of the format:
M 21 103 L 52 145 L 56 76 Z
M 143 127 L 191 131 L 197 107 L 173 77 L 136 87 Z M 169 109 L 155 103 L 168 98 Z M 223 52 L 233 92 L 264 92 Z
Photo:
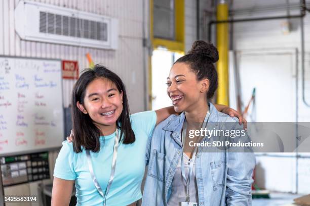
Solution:
M 203 58 L 207 58 L 212 63 L 218 61 L 217 48 L 212 43 L 199 40 L 192 44 L 191 49 L 188 52 L 189 55 L 197 55 Z

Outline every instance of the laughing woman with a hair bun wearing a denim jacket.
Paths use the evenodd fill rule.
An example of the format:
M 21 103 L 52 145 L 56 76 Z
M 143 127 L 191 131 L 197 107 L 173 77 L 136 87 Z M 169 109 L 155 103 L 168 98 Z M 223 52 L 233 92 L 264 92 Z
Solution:
M 212 145 L 214 136 L 188 138 L 188 131 L 200 130 L 201 125 L 208 130 L 243 129 L 237 118 L 218 112 L 209 102 L 218 85 L 213 65 L 217 60 L 212 44 L 196 41 L 171 68 L 167 93 L 174 110 L 181 114 L 161 122 L 149 139 L 142 205 L 251 205 L 255 166 L 251 148 L 242 150 L 247 153 L 217 147 L 201 152 L 206 147 L 197 148 L 193 143 L 207 141 Z M 249 140 L 247 135 L 235 139 Z

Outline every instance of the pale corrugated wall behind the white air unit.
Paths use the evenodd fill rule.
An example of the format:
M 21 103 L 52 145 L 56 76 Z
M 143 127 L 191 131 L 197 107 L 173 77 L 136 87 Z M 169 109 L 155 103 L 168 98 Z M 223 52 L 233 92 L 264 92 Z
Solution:
M 14 9 L 19 0 L 0 1 L 0 55 L 78 60 L 80 70 L 88 66 L 86 53 L 121 76 L 127 86 L 131 112 L 144 110 L 142 0 L 38 0 L 34 2 L 114 17 L 119 20 L 117 50 L 95 49 L 21 40 L 15 33 Z M 122 61 L 120 61 L 122 60 Z M 64 106 L 70 102 L 74 81 L 63 81 Z

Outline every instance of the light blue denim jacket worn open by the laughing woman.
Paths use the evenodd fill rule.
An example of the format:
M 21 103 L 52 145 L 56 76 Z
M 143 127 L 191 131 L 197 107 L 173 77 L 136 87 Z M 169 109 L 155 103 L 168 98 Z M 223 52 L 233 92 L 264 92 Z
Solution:
M 211 127 L 216 125 L 217 129 L 243 129 L 237 118 L 218 112 L 211 103 L 209 108 L 207 129 L 213 129 L 208 128 L 209 123 L 212 123 Z M 152 137 L 149 138 L 143 206 L 167 205 L 171 182 L 182 155 L 181 129 L 184 119 L 184 113 L 171 115 L 154 129 Z M 218 124 L 224 122 L 229 124 Z M 205 140 L 212 141 L 206 137 L 202 141 Z M 229 152 L 229 149 L 198 152 L 195 164 L 198 205 L 251 205 L 254 166 L 253 152 Z

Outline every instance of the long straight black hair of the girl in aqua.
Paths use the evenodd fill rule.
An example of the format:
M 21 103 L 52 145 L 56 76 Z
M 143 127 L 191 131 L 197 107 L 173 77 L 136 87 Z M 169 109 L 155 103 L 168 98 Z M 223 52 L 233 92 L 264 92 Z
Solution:
M 100 150 L 100 130 L 94 125 L 93 120 L 89 114 L 84 114 L 76 106 L 76 102 L 84 104 L 84 97 L 86 88 L 93 80 L 97 78 L 106 78 L 115 83 L 119 92 L 123 92 L 123 111 L 117 120 L 117 128 L 121 129 L 120 141 L 124 144 L 130 144 L 135 141 L 135 134 L 131 128 L 130 111 L 126 94 L 126 89 L 121 78 L 114 72 L 108 70 L 102 65 L 95 65 L 94 69 L 85 69 L 82 75 L 76 81 L 72 91 L 72 131 L 73 137 L 73 150 L 81 152 L 83 146 L 85 149 L 93 152 Z

